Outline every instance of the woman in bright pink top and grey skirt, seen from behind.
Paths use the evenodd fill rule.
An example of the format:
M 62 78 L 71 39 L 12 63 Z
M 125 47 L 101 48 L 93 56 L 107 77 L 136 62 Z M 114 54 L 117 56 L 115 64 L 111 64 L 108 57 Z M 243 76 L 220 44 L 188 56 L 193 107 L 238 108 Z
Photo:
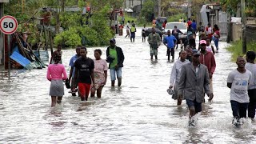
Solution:
M 47 70 L 47 79 L 50 81 L 51 107 L 55 106 L 56 102 L 61 103 L 64 95 L 63 80 L 66 80 L 67 76 L 64 65 L 58 63 L 60 61 L 61 57 L 55 55 L 54 64 L 50 64 Z

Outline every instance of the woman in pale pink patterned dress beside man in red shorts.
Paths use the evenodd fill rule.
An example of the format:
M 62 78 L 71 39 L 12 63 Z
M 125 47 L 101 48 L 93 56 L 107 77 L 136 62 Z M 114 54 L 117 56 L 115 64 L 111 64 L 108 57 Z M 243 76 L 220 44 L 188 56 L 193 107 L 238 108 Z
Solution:
M 94 97 L 95 91 L 97 90 L 97 97 L 102 97 L 102 88 L 106 85 L 107 77 L 107 63 L 106 60 L 101 58 L 102 50 L 94 50 L 94 81 L 95 87 L 90 90 L 90 97 Z

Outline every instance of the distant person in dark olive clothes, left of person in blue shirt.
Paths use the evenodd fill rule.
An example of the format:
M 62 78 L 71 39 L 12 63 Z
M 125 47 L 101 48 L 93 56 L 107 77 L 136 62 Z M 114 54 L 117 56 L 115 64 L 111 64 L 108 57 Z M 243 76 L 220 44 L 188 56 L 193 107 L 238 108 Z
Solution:
M 155 59 L 158 59 L 158 46 L 161 44 L 161 37 L 158 33 L 156 33 L 156 30 L 154 27 L 152 27 L 152 33 L 149 34 L 149 37 L 147 38 L 147 42 L 150 44 L 150 59 L 153 59 L 153 56 Z

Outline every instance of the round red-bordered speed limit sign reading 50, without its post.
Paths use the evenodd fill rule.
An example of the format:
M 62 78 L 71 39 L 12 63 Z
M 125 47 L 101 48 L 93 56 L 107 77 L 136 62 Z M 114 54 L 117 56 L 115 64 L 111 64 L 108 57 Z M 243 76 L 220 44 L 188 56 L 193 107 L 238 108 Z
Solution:
M 0 30 L 3 34 L 14 34 L 17 27 L 18 22 L 13 16 L 6 15 L 0 19 Z

